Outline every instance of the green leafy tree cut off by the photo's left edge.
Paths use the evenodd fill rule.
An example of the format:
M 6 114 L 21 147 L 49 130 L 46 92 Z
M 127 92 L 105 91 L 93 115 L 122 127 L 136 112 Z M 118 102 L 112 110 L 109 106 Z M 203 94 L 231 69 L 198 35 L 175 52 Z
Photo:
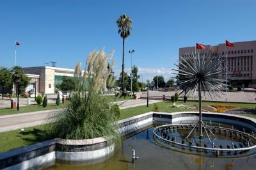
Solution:
M 0 85 L 4 99 L 4 88 L 12 88 L 12 72 L 8 68 L 0 67 Z

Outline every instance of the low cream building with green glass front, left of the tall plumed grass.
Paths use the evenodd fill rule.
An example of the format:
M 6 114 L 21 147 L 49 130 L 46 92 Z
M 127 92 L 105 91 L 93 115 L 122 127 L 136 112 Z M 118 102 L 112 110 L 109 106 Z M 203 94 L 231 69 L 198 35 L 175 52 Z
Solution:
M 56 84 L 61 84 L 62 77 L 74 77 L 74 69 L 68 68 L 58 68 L 53 66 L 34 66 L 34 67 L 24 67 L 22 68 L 24 72 L 31 78 L 29 86 L 26 88 L 26 91 L 29 89 L 35 88 L 36 91 L 40 93 L 54 93 L 56 89 Z

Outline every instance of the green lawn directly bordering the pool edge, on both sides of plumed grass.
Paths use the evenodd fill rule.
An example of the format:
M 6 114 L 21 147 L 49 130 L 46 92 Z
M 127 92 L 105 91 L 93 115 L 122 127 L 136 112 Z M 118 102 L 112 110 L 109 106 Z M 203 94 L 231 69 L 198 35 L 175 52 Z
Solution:
M 159 102 L 160 112 L 179 112 L 179 111 L 189 111 L 188 109 L 178 109 L 173 107 L 168 107 L 168 105 L 172 104 L 172 102 L 164 101 Z M 176 104 L 184 104 L 184 102 L 177 102 Z M 186 105 L 197 105 L 198 102 L 186 102 Z M 205 102 L 203 105 L 211 105 L 211 104 L 221 104 L 218 102 Z M 222 103 L 223 104 L 223 103 Z M 255 108 L 255 104 L 231 104 L 236 105 L 237 107 L 244 108 Z M 48 107 L 48 106 L 47 106 Z M 132 116 L 136 116 L 139 114 L 143 114 L 145 112 L 150 112 L 154 110 L 154 104 L 150 104 L 149 107 L 147 105 L 131 107 L 128 109 L 122 109 L 119 120 L 124 118 L 129 118 Z M 254 114 L 241 114 L 242 116 L 248 116 L 251 118 L 256 118 Z M 0 134 L 0 153 L 4 151 L 13 150 L 16 148 L 28 146 L 29 144 L 35 144 L 38 142 L 45 141 L 50 139 L 47 126 L 40 125 L 36 127 L 25 128 L 24 133 L 20 133 L 20 130 L 12 130 L 9 132 L 2 132 Z

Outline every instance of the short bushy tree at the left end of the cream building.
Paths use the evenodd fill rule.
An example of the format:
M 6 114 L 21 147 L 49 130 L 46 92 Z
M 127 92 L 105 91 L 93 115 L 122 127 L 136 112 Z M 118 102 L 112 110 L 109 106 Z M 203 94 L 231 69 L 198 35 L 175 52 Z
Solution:
M 28 86 L 29 84 L 29 77 L 24 73 L 24 71 L 22 70 L 22 68 L 20 66 L 14 66 L 11 70 L 12 72 L 12 81 L 15 83 L 15 89 L 16 89 L 16 93 L 24 93 L 25 88 Z M 18 84 L 16 83 L 17 80 L 20 80 L 19 82 L 19 91 L 18 90 Z

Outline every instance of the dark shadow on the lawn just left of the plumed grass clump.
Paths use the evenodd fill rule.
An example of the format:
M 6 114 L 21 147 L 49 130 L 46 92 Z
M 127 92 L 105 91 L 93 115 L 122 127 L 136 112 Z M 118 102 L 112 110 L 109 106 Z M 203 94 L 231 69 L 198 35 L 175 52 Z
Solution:
M 52 134 L 49 132 L 49 130 L 42 130 L 39 128 L 33 128 L 33 130 L 20 132 L 19 134 L 22 140 L 29 143 L 39 143 L 52 139 Z

